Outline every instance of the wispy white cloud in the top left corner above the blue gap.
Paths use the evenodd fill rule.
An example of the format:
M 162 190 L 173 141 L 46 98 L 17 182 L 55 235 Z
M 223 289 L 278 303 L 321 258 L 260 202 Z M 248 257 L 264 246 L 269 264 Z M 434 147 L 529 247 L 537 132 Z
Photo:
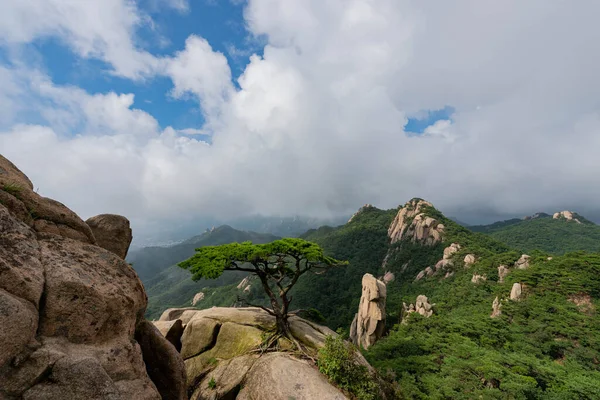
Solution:
M 84 58 L 107 62 L 114 73 L 139 79 L 159 61 L 136 46 L 136 30 L 151 20 L 131 0 L 3 0 L 0 44 L 53 36 Z

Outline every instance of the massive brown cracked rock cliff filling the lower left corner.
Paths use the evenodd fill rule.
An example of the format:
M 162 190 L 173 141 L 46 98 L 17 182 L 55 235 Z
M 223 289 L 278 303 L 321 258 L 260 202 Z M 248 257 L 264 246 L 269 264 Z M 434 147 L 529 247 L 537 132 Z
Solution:
M 160 399 L 135 271 L 32 188 L 0 156 L 0 399 Z

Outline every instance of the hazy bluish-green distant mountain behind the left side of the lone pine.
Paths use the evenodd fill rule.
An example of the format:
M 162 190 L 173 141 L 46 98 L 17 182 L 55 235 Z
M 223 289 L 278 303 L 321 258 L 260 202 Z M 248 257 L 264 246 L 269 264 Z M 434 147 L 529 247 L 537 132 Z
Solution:
M 232 273 L 214 280 L 192 281 L 190 273 L 177 267 L 177 263 L 192 256 L 194 249 L 245 241 L 268 243 L 276 239 L 278 237 L 271 234 L 239 231 L 223 225 L 177 245 L 147 247 L 131 252 L 127 261 L 133 265 L 148 294 L 146 316 L 153 319 L 169 307 L 191 306 L 192 299 L 202 289 L 233 285 L 244 278 L 245 274 Z M 235 299 L 236 295 L 217 295 L 212 301 L 231 306 Z

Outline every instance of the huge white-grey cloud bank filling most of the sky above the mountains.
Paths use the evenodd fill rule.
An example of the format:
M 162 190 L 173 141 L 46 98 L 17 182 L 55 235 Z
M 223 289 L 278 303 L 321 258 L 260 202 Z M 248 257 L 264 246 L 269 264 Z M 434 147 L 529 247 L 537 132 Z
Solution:
M 324 216 L 413 196 L 450 213 L 600 214 L 599 11 L 593 1 L 251 0 L 248 27 L 268 45 L 239 89 L 200 37 L 158 62 L 174 95 L 202 105 L 210 145 L 196 130 L 161 130 L 131 95 L 40 78 L 27 90 L 43 99 L 33 107 L 46 126 L 9 129 L 0 148 L 85 216 Z M 0 104 L 23 96 L 11 82 Z M 407 116 L 446 105 L 451 122 L 404 133 Z

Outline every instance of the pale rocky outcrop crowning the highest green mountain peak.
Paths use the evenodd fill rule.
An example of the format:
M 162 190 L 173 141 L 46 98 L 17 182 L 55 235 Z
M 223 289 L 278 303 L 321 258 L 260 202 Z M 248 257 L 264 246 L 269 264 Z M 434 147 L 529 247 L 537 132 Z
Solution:
M 391 243 L 404 239 L 413 242 L 432 245 L 442 241 L 444 225 L 435 218 L 426 215 L 428 207 L 433 207 L 431 203 L 412 199 L 404 205 L 392 221 L 388 229 L 388 237 Z

